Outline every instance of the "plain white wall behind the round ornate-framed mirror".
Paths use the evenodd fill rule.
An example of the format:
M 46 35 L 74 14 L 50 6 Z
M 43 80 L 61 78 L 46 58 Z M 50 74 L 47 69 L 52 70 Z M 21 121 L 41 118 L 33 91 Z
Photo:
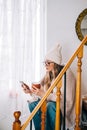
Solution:
M 75 32 L 75 22 L 78 15 L 87 8 L 87 1 L 83 0 L 47 0 L 47 47 L 48 50 L 56 43 L 62 45 L 63 63 L 67 62 L 80 40 Z M 84 49 L 82 66 L 82 93 L 87 93 L 87 46 Z M 71 68 L 76 72 L 76 62 Z

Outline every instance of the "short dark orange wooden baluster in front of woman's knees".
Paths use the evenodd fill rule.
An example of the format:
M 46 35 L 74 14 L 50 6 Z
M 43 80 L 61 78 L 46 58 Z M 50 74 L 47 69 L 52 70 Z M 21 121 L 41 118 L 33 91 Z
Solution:
M 45 130 L 45 121 L 46 121 L 46 101 L 43 102 L 41 106 L 41 130 Z

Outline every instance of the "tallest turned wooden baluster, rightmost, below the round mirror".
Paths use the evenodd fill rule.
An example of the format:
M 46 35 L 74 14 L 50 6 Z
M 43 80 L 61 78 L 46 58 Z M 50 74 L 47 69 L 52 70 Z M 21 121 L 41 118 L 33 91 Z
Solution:
M 81 59 L 83 57 L 83 48 L 78 54 L 78 66 L 77 66 L 77 84 L 76 84 L 76 126 L 75 130 L 81 130 L 79 123 L 80 123 L 80 109 L 81 109 L 81 66 L 82 62 Z

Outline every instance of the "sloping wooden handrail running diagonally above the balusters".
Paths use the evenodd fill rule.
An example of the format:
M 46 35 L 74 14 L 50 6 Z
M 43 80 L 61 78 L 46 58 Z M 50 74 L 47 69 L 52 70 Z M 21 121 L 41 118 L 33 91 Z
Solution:
M 44 101 L 46 100 L 46 98 L 49 96 L 49 94 L 51 93 L 51 91 L 58 84 L 58 82 L 63 77 L 64 73 L 67 71 L 67 69 L 70 67 L 70 65 L 74 61 L 74 59 L 78 56 L 78 54 L 80 53 L 80 51 L 83 49 L 83 46 L 84 46 L 84 44 L 86 42 L 87 42 L 87 36 L 85 36 L 85 38 L 82 40 L 81 44 L 79 45 L 79 47 L 77 48 L 77 50 L 75 51 L 75 53 L 71 56 L 70 60 L 67 62 L 67 64 L 64 66 L 64 68 L 62 69 L 62 71 L 60 72 L 60 74 L 55 79 L 54 83 L 47 90 L 47 92 L 45 93 L 45 95 L 43 96 L 43 98 L 39 101 L 38 105 L 32 111 L 32 113 L 30 114 L 30 116 L 28 117 L 28 119 L 26 120 L 26 122 L 21 126 L 21 130 L 25 130 L 25 128 L 27 127 L 27 125 L 29 124 L 29 122 L 32 120 L 32 118 L 34 117 L 34 115 L 36 114 L 36 112 L 39 110 L 39 108 L 41 107 L 41 105 L 44 103 Z

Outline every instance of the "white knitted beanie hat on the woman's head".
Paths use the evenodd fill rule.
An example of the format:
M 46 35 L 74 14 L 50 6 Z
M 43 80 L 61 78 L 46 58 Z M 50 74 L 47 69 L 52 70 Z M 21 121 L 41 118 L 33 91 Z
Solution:
M 50 60 L 56 64 L 61 65 L 62 63 L 62 54 L 61 54 L 62 47 L 57 44 L 52 50 L 50 50 L 47 55 L 45 56 L 45 61 Z

